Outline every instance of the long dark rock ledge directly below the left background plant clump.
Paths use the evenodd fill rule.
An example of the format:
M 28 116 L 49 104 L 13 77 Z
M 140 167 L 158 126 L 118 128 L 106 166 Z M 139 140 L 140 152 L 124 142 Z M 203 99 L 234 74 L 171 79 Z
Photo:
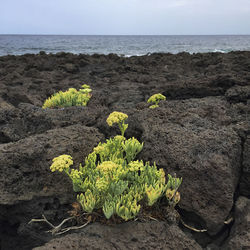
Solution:
M 54 128 L 74 124 L 94 126 L 107 110 L 100 105 L 42 109 L 30 104 L 19 104 L 18 108 L 0 109 L 0 142 L 15 142 L 27 136 L 42 134 Z

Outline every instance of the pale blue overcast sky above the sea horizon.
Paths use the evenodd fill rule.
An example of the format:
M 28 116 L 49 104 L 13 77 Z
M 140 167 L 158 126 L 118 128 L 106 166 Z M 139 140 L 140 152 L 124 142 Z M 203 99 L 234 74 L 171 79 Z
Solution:
M 250 0 L 0 0 L 0 34 L 250 34 Z

